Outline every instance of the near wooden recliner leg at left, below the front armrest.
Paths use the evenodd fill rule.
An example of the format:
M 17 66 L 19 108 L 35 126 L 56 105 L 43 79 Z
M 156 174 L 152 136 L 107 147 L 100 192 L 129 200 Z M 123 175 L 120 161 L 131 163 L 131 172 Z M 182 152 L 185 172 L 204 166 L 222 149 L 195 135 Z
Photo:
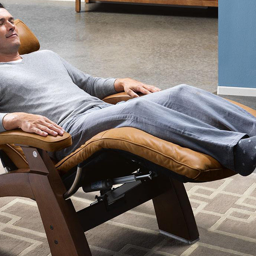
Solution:
M 29 181 L 52 256 L 91 256 L 85 234 L 66 189 L 46 151 L 22 147 L 29 163 Z

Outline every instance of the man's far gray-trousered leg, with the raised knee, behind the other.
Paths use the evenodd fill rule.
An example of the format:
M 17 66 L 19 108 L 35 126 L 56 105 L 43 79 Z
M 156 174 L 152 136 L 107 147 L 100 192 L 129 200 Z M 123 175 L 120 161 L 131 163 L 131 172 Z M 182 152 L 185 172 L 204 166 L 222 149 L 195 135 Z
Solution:
M 255 116 L 226 99 L 190 85 L 177 85 L 141 98 L 189 115 L 222 130 L 243 132 L 250 137 L 256 135 Z

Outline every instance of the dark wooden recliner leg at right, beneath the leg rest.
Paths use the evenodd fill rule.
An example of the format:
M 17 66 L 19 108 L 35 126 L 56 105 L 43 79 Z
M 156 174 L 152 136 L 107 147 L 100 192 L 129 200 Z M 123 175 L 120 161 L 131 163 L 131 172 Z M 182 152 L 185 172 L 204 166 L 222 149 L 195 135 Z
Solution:
M 153 198 L 160 233 L 192 244 L 199 240 L 196 220 L 183 183 L 170 178 L 170 189 Z

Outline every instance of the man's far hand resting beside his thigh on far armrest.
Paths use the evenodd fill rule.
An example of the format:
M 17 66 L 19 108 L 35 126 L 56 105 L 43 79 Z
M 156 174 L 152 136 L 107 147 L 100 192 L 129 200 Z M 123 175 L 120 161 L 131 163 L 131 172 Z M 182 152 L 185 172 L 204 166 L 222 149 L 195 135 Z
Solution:
M 143 94 L 149 94 L 152 92 L 159 92 L 161 89 L 153 86 L 141 83 L 132 78 L 118 78 L 114 83 L 116 92 L 125 91 L 132 98 L 137 98 L 139 95 L 135 92 L 142 92 Z

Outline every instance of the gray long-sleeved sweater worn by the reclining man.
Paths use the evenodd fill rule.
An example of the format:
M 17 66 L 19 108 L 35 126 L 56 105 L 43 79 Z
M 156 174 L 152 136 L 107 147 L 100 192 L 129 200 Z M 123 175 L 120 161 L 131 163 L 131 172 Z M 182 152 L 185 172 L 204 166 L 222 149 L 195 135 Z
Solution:
M 61 126 L 116 93 L 114 78 L 87 75 L 50 50 L 21 57 L 21 62 L 0 63 L 0 132 L 6 131 L 2 123 L 6 114 L 43 115 Z

